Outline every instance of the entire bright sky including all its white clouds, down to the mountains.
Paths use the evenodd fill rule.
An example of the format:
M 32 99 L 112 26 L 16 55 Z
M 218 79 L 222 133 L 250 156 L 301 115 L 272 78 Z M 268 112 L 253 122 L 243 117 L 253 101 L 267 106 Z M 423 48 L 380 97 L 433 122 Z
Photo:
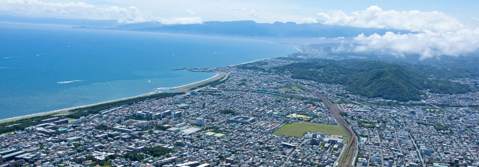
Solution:
M 0 0 L 0 13 L 125 24 L 253 20 L 402 29 L 417 33 L 358 34 L 354 51 L 428 58 L 478 50 L 478 6 L 477 0 Z

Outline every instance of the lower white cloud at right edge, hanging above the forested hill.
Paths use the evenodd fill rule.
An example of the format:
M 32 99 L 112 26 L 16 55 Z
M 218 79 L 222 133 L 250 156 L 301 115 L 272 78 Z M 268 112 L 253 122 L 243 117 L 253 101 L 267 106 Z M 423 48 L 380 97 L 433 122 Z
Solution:
M 384 35 L 360 34 L 354 38 L 363 46 L 356 51 L 380 50 L 402 56 L 406 53 L 420 54 L 422 59 L 434 56 L 459 56 L 479 49 L 479 28 L 463 29 L 456 32 L 432 32 Z

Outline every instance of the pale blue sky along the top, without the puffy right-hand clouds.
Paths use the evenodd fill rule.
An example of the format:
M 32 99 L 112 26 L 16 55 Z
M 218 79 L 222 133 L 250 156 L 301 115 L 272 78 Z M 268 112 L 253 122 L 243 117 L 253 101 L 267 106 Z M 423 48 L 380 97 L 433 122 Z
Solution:
M 0 0 L 6 2 L 9 0 Z M 16 0 L 10 0 L 16 1 Z M 24 0 L 18 0 L 24 1 Z M 456 17 L 464 24 L 479 25 L 479 1 L 477 0 L 26 0 L 39 2 L 69 3 L 85 2 L 88 5 L 108 8 L 134 6 L 141 13 L 151 13 L 154 17 L 194 17 L 202 21 L 253 20 L 256 22 L 302 22 L 304 17 L 314 17 L 318 12 L 343 11 L 350 13 L 362 11 L 377 5 L 384 11 L 442 11 Z M 25 5 L 25 4 L 24 4 Z M 0 10 L 10 10 L 22 14 L 61 18 L 111 19 L 114 17 L 82 16 L 78 14 L 59 14 L 52 11 L 16 11 L 22 5 L 3 5 Z M 6 6 L 10 6 L 8 9 Z M 12 6 L 12 7 L 11 7 Z M 42 6 L 45 8 L 45 6 Z M 243 9 L 243 11 L 234 9 Z M 69 10 L 74 10 L 70 8 Z M 193 11 L 187 13 L 186 11 Z M 256 13 L 256 14 L 255 14 Z

